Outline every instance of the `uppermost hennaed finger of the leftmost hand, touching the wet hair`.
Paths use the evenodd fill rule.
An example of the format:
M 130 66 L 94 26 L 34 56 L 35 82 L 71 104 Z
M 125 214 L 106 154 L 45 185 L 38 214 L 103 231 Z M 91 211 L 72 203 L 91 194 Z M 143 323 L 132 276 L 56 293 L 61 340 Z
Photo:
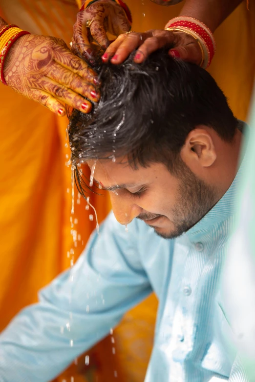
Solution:
M 57 53 L 58 52 L 58 53 Z M 90 68 L 87 63 L 75 56 L 69 49 L 60 48 L 54 50 L 54 60 L 61 66 L 69 69 L 71 72 L 78 74 L 84 80 L 90 83 L 98 84 L 97 73 Z

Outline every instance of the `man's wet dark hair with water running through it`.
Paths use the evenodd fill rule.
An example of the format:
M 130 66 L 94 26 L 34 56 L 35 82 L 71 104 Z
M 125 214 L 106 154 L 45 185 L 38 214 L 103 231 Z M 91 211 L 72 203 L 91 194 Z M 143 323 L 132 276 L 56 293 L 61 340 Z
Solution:
M 102 63 L 99 103 L 89 114 L 75 110 L 70 117 L 78 183 L 79 161 L 122 156 L 134 168 L 162 162 L 176 174 L 180 150 L 198 125 L 213 128 L 224 141 L 234 138 L 237 120 L 206 70 L 169 57 L 168 49 L 157 50 L 141 64 L 133 62 L 134 54 L 119 65 Z

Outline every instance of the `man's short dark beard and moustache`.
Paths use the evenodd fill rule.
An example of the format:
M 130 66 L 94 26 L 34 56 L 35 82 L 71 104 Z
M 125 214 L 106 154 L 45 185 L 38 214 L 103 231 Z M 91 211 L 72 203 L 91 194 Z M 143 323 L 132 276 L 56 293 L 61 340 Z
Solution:
M 181 175 L 180 175 L 181 174 Z M 171 232 L 162 233 L 151 226 L 155 233 L 164 239 L 175 239 L 181 236 L 200 221 L 219 200 L 214 187 L 198 179 L 186 164 L 181 163 L 177 175 L 180 180 L 178 198 L 171 210 L 174 229 Z M 153 219 L 164 215 L 146 214 L 138 219 Z M 149 224 L 148 224 L 149 225 Z

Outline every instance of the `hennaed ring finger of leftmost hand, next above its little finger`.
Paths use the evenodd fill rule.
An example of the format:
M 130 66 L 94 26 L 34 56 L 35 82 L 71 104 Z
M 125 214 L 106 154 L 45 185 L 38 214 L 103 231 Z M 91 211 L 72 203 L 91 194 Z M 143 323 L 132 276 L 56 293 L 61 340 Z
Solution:
M 49 80 L 48 78 L 43 77 L 41 80 L 34 83 L 34 86 L 84 113 L 89 113 L 91 111 L 92 104 L 89 101 L 54 80 Z

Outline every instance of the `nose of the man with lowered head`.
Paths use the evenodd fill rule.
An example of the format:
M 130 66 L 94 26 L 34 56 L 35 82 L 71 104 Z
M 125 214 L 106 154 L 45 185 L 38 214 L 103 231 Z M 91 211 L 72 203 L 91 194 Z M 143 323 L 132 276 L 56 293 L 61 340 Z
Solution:
M 136 218 L 142 208 L 135 204 L 130 198 L 110 193 L 111 206 L 115 218 L 121 224 L 128 224 Z

